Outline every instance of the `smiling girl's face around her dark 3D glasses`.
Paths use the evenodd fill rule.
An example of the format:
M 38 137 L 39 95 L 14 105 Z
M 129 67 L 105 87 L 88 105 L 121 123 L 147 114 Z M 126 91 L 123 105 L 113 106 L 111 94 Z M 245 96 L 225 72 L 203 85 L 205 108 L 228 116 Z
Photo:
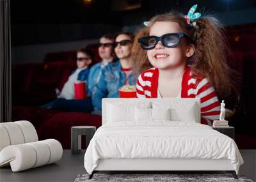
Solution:
M 182 33 L 177 22 L 155 22 L 150 28 L 150 36 L 162 36 L 167 33 Z M 159 69 L 175 68 L 186 62 L 186 41 L 180 40 L 180 44 L 174 48 L 164 47 L 159 41 L 152 50 L 147 50 L 150 63 Z

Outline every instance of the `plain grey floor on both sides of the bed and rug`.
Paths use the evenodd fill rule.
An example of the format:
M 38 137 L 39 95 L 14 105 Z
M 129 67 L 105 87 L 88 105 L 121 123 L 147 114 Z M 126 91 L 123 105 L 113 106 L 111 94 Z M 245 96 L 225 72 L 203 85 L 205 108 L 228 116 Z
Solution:
M 256 181 L 256 149 L 240 150 L 244 159 L 239 174 Z M 70 150 L 63 151 L 63 157 L 57 163 L 29 169 L 22 172 L 12 172 L 10 167 L 0 169 L 0 181 L 74 181 L 78 174 L 86 173 L 83 165 L 84 151 L 72 155 Z

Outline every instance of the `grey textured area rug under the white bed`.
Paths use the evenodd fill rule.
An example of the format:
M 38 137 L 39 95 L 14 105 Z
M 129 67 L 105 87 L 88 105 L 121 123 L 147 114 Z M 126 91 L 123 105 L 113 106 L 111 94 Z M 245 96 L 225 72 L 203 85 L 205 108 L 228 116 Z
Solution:
M 246 179 L 244 176 L 239 176 L 234 179 L 232 174 L 94 174 L 92 179 L 88 179 L 89 174 L 78 175 L 75 182 L 85 181 L 136 181 L 136 182 L 150 182 L 150 181 L 171 181 L 171 182 L 190 182 L 190 181 L 205 181 L 205 182 L 229 182 L 229 181 L 243 181 L 253 182 L 251 179 Z

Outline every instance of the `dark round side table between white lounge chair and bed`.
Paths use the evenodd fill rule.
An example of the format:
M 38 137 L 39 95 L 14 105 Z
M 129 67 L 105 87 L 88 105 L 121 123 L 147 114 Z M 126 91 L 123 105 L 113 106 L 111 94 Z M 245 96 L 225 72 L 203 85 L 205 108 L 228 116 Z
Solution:
M 72 151 L 72 154 L 81 153 L 81 135 L 86 135 L 86 148 L 87 148 L 95 131 L 96 131 L 95 126 L 72 126 L 72 128 L 71 128 L 71 151 Z

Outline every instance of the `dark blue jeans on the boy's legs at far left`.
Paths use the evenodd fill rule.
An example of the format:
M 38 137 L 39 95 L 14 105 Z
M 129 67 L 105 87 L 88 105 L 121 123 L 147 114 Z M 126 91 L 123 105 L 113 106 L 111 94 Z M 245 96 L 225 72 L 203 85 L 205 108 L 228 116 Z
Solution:
M 83 100 L 67 100 L 65 98 L 57 98 L 53 102 L 42 106 L 47 109 L 62 110 L 64 112 L 92 112 L 92 98 L 88 97 Z

